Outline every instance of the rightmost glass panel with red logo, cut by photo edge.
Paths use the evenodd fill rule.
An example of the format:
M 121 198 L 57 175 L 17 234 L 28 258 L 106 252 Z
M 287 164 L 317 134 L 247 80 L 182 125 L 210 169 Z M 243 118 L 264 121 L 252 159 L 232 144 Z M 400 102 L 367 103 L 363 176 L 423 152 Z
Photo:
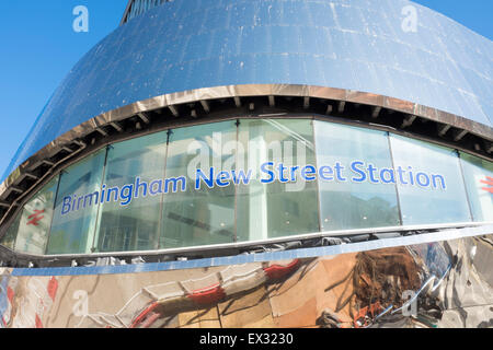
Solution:
M 460 153 L 474 221 L 493 221 L 493 163 Z

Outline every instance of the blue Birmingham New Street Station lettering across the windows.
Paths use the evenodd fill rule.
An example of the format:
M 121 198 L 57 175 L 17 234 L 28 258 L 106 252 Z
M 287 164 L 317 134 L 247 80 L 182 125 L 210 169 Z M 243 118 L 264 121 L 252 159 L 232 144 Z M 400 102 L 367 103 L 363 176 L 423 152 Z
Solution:
M 335 162 L 333 165 L 319 167 L 310 164 L 286 166 L 284 163 L 265 162 L 261 164 L 257 172 L 253 168 L 218 171 L 214 166 L 207 171 L 197 168 L 194 179 L 191 182 L 188 182 L 187 176 L 157 178 L 149 182 L 142 180 L 137 176 L 135 182 L 124 186 L 108 187 L 106 184 L 103 184 L 101 190 L 64 197 L 60 206 L 61 214 L 66 215 L 104 202 L 119 202 L 122 207 L 127 207 L 134 199 L 186 191 L 188 186 L 192 186 L 194 190 L 199 190 L 203 186 L 210 189 L 230 185 L 249 186 L 256 180 L 255 178 L 259 178 L 259 182 L 265 185 L 274 182 L 287 184 L 319 179 L 321 182 L 352 182 L 354 184 L 369 183 L 374 185 L 400 184 L 432 190 L 447 189 L 447 182 L 444 175 L 414 170 L 412 166 L 379 168 L 371 163 L 360 160 L 353 161 L 349 166 Z

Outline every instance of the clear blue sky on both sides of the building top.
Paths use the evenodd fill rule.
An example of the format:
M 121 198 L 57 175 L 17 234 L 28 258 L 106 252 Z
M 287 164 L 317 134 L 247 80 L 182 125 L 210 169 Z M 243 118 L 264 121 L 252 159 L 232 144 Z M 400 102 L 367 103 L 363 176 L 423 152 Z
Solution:
M 186 1 L 186 0 L 184 0 Z M 493 0 L 416 0 L 493 39 Z M 3 0 L 0 8 L 0 177 L 77 61 L 114 31 L 127 0 Z M 76 33 L 73 8 L 89 9 Z

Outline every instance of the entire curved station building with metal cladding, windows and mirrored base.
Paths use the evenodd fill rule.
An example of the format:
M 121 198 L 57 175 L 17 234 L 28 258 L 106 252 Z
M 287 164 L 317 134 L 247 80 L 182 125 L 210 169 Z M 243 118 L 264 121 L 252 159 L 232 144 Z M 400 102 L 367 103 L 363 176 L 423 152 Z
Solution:
M 0 185 L 0 314 L 68 314 L 3 324 L 148 271 L 64 325 L 491 326 L 492 54 L 409 1 L 129 1 Z

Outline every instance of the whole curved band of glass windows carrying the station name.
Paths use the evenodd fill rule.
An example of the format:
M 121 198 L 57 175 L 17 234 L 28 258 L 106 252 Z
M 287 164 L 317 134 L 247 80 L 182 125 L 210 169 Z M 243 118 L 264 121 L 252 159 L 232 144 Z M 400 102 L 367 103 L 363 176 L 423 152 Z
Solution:
M 312 118 L 240 118 L 107 145 L 25 203 L 1 244 L 156 250 L 493 220 L 493 163 Z

